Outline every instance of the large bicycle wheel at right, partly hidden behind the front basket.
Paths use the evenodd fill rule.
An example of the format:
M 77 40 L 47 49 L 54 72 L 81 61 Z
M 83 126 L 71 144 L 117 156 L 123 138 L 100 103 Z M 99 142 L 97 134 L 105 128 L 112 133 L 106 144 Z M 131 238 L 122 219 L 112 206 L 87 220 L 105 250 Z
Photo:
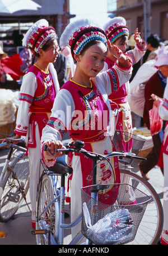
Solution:
M 129 183 L 151 197 L 147 205 L 141 223 L 139 224 L 135 239 L 129 244 L 132 245 L 152 245 L 157 244 L 160 239 L 163 227 L 163 210 L 160 198 L 155 189 L 146 179 L 141 178 L 136 173 L 120 168 L 121 182 Z

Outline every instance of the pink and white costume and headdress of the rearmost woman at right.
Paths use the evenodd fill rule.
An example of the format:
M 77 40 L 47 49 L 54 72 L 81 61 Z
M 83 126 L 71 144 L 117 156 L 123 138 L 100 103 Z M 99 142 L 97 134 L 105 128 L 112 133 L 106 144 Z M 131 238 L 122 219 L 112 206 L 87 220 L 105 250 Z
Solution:
M 129 30 L 126 26 L 126 20 L 123 17 L 114 17 L 104 24 L 105 33 L 110 41 L 114 43 L 120 37 L 129 37 Z M 135 44 L 134 50 L 125 52 L 125 55 L 132 57 L 133 65 L 136 64 L 147 50 L 147 43 L 142 41 L 141 46 Z M 103 70 L 108 70 L 114 65 L 114 62 L 106 57 Z M 129 93 L 129 82 L 124 83 L 115 92 L 109 95 L 111 101 L 111 110 L 122 108 L 125 111 L 120 111 L 116 116 L 116 129 L 119 131 L 125 131 L 132 133 L 132 115 L 130 112 L 130 106 L 127 101 L 127 95 Z M 128 141 L 127 141 L 128 140 Z M 123 136 L 123 151 L 129 151 L 132 147 L 132 140 L 129 140 Z

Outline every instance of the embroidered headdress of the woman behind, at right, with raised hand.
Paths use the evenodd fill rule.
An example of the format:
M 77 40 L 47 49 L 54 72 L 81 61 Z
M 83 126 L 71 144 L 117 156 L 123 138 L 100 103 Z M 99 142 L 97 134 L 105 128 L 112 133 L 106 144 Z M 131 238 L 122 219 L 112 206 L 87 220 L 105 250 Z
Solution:
M 129 37 L 129 30 L 123 17 L 115 17 L 104 25 L 104 30 L 111 43 L 122 35 Z

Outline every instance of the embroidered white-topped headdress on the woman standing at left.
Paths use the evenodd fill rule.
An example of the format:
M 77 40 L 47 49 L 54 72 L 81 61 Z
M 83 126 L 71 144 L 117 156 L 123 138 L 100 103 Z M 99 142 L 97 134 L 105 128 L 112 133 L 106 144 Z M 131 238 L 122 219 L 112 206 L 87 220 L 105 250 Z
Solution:
M 22 40 L 22 46 L 30 47 L 33 51 L 39 53 L 44 44 L 51 38 L 57 38 L 55 29 L 49 26 L 48 21 L 41 19 L 27 31 Z

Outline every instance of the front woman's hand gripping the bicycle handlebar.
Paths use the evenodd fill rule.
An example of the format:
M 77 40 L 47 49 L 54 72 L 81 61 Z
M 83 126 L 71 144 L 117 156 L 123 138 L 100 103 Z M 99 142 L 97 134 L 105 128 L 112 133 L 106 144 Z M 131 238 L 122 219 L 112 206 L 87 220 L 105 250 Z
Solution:
M 46 158 L 49 156 L 52 156 L 52 158 L 58 158 L 59 156 L 64 155 L 64 152 L 56 152 L 57 149 L 62 149 L 63 147 L 63 143 L 61 141 L 48 141 L 45 144 L 48 146 L 48 149 L 52 153 L 51 155 L 48 151 L 43 151 L 43 154 Z

